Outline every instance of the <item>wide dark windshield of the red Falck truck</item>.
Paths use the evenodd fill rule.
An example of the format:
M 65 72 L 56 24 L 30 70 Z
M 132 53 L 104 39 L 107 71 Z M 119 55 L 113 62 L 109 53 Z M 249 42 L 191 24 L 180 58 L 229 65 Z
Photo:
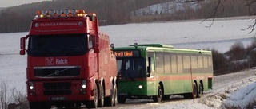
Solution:
M 88 51 L 86 33 L 35 35 L 28 43 L 30 56 L 78 56 Z

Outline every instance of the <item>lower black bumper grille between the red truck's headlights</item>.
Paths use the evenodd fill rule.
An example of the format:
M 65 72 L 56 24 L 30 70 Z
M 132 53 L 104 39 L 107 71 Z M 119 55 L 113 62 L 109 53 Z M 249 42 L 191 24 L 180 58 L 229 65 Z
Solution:
M 71 83 L 44 83 L 43 95 L 71 95 Z

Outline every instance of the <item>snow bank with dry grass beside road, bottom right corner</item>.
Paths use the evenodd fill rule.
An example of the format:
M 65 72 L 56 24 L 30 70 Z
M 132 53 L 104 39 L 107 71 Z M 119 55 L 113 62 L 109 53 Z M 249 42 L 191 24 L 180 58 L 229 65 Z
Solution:
M 244 72 L 243 72 L 244 73 Z M 253 73 L 247 71 L 246 73 Z M 233 75 L 236 75 L 235 73 Z M 239 75 L 237 75 L 239 76 Z M 219 76 L 224 79 L 225 76 Z M 206 104 L 213 108 L 246 108 L 249 104 L 256 101 L 256 76 L 251 76 L 243 80 L 230 82 L 222 88 L 215 88 L 209 94 L 198 100 L 198 103 Z

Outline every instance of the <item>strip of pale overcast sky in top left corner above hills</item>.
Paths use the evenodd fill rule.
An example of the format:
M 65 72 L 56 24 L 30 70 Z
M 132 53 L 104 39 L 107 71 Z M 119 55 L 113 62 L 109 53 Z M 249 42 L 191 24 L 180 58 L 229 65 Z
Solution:
M 28 4 L 32 2 L 42 2 L 49 0 L 1 0 L 0 7 L 19 6 L 22 4 Z

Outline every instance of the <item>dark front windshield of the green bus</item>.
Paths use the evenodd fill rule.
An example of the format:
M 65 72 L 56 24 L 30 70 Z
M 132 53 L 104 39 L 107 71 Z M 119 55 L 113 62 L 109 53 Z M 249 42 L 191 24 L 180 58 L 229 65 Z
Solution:
M 117 59 L 118 76 L 122 78 L 145 78 L 146 63 L 144 58 L 119 58 Z

